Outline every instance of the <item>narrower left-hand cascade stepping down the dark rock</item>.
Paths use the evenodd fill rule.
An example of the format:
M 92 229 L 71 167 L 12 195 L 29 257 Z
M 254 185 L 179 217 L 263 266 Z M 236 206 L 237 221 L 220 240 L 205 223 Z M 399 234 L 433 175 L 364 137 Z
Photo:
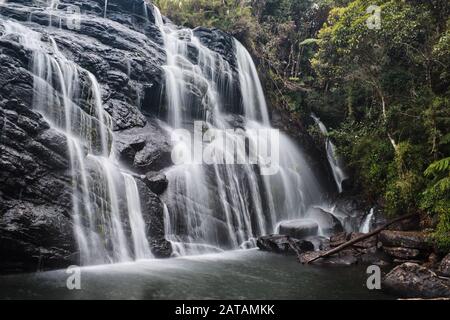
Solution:
M 33 109 L 67 137 L 82 264 L 151 257 L 137 184 L 114 157 L 112 119 L 96 77 L 69 60 L 50 35 L 16 22 L 3 25 L 3 36 L 17 36 L 33 53 Z

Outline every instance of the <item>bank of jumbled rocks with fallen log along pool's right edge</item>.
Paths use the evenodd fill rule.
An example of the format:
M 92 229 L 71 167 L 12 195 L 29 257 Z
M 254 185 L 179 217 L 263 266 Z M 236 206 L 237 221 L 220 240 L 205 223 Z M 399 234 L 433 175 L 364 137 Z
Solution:
M 260 237 L 260 250 L 278 254 L 297 255 L 307 264 L 328 250 L 360 237 L 357 232 L 339 232 L 329 239 L 311 235 L 308 223 L 299 224 L 298 230 L 282 229 L 288 234 L 273 234 Z M 291 223 L 290 227 L 295 226 Z M 355 264 L 378 265 L 385 275 L 382 289 L 399 298 L 450 299 L 450 253 L 433 248 L 425 232 L 408 223 L 357 242 L 329 257 L 319 258 L 314 265 L 351 266 Z

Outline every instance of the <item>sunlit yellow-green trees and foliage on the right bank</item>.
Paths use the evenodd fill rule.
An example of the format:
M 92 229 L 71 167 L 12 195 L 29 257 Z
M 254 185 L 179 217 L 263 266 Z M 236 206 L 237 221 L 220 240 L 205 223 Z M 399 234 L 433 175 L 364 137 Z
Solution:
M 373 4 L 381 8 L 380 29 L 366 25 Z M 447 249 L 448 12 L 448 2 L 439 0 L 353 0 L 333 7 L 317 37 L 315 90 L 306 99 L 335 128 L 355 190 L 387 213 L 424 210 L 436 217 L 435 240 Z

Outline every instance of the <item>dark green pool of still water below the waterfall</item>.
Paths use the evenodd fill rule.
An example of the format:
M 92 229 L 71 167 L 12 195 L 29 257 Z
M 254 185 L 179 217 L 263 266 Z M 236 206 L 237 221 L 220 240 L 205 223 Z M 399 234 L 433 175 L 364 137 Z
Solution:
M 364 267 L 302 266 L 258 250 L 0 277 L 1 299 L 389 299 L 366 288 Z

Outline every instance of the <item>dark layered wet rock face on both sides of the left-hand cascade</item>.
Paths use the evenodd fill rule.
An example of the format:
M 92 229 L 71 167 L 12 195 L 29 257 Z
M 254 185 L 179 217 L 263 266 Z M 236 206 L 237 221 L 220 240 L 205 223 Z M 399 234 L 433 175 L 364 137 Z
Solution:
M 0 271 L 35 271 L 78 262 L 72 221 L 72 177 L 64 134 L 33 110 L 32 52 L 5 33 L 17 21 L 51 36 L 59 50 L 100 84 L 103 108 L 113 120 L 120 161 L 136 175 L 172 165 L 170 136 L 151 115 L 161 110 L 165 52 L 151 7 L 143 0 L 60 1 L 50 14 L 38 2 L 10 0 L 0 6 Z M 70 6 L 82 12 L 80 28 L 66 19 Z M 52 26 L 52 27 L 49 27 Z M 235 65 L 232 40 L 218 30 L 196 34 Z M 86 75 L 80 78 L 86 88 Z M 89 108 L 89 101 L 77 101 Z M 137 179 L 139 180 L 139 179 Z M 167 181 L 138 182 L 144 219 L 155 256 L 171 255 L 157 194 Z

